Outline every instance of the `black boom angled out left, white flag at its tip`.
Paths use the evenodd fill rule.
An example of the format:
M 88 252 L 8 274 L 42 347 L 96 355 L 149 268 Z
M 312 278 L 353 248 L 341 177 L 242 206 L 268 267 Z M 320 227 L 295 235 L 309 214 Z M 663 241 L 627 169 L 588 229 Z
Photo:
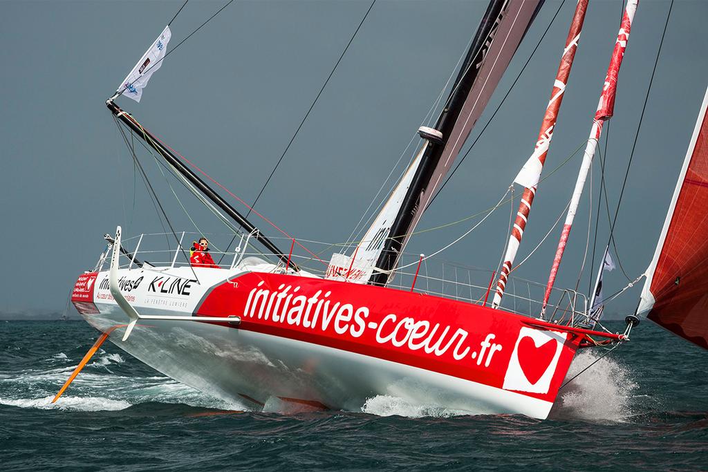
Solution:
M 165 146 L 160 144 L 158 139 L 154 137 L 147 129 L 142 127 L 142 125 L 140 125 L 134 117 L 121 110 L 120 107 L 118 107 L 118 105 L 113 102 L 113 100 L 108 100 L 105 105 L 108 106 L 108 110 L 110 110 L 113 115 L 118 118 L 118 120 L 125 123 L 127 127 L 130 127 L 130 129 L 132 129 L 138 137 L 141 137 L 144 142 L 146 142 L 147 144 L 149 144 L 149 146 L 155 149 L 155 151 L 157 151 L 160 156 L 162 156 L 162 158 L 167 161 L 167 163 L 169 163 L 170 166 L 172 166 L 176 169 L 176 171 L 181 173 L 187 180 L 190 181 L 190 183 L 192 183 L 212 202 L 214 202 L 217 207 L 224 210 L 224 212 L 228 214 L 229 217 L 232 217 L 234 221 L 236 221 L 236 223 L 238 223 L 246 231 L 252 233 L 253 237 L 256 238 L 258 242 L 263 244 L 263 246 L 265 246 L 268 251 L 277 255 L 278 258 L 286 264 L 286 267 L 287 265 L 290 265 L 293 270 L 299 271 L 299 267 L 297 267 L 297 264 L 295 264 L 292 260 L 289 261 L 287 255 L 280 251 L 280 249 L 278 249 L 278 247 L 275 246 L 275 244 L 273 244 L 270 239 L 263 236 L 261 234 L 261 231 L 259 231 L 256 226 L 253 226 L 253 224 L 251 224 L 251 221 L 247 220 L 246 217 L 236 211 L 236 209 L 232 207 L 229 202 L 224 200 L 219 194 L 217 194 L 217 192 L 212 190 L 212 188 L 210 188 L 209 185 L 207 185 L 202 179 L 200 179 L 197 174 L 195 174 L 190 168 L 185 166 L 180 159 L 177 159 L 177 157 L 172 154 L 169 149 L 166 149 Z M 149 137 L 149 139 L 147 139 L 147 137 Z

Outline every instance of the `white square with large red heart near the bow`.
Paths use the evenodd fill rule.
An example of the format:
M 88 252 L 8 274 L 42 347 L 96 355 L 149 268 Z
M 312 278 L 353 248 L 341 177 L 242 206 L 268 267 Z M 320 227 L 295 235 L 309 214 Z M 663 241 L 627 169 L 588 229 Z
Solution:
M 548 393 L 567 338 L 568 333 L 521 328 L 502 388 Z

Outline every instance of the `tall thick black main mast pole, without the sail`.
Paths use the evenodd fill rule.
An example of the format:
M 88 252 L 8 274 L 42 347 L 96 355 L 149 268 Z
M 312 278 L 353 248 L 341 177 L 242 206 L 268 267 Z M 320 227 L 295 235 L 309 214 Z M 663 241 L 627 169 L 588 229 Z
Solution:
M 442 139 L 439 141 L 428 139 L 428 148 L 421 158 L 421 163 L 415 175 L 413 175 L 413 180 L 408 192 L 406 192 L 404 202 L 391 225 L 391 229 L 389 229 L 389 236 L 384 243 L 374 273 L 369 280 L 370 284 L 385 285 L 388 282 L 389 272 L 394 269 L 399 260 L 401 247 L 411 224 L 413 224 L 413 219 L 418 211 L 424 210 L 420 208 L 421 195 L 428 188 L 430 179 L 433 178 L 433 173 L 438 166 L 442 151 L 445 149 L 447 137 L 450 136 L 452 129 L 455 127 L 455 122 L 457 122 L 459 113 L 462 111 L 464 101 L 467 100 L 467 95 L 472 88 L 474 79 L 476 79 L 479 63 L 484 59 L 484 50 L 489 47 L 490 34 L 498 27 L 499 21 L 501 21 L 499 17 L 508 1 L 491 0 L 489 6 L 487 6 L 484 17 L 474 35 L 472 45 L 470 45 L 467 56 L 464 58 L 462 68 L 457 74 L 455 85 L 452 86 L 450 97 L 447 99 L 447 106 L 442 110 L 438 121 L 435 123 L 435 129 L 442 133 Z M 377 269 L 381 270 L 381 272 Z

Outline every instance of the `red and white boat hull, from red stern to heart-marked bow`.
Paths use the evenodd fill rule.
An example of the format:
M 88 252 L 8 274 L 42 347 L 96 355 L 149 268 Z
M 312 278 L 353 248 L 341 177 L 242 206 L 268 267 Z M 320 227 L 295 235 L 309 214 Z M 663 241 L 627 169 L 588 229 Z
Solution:
M 426 294 L 315 277 L 190 267 L 119 271 L 141 315 L 127 316 L 108 272 L 81 275 L 72 301 L 92 326 L 159 372 L 254 408 L 280 398 L 359 410 L 391 395 L 472 414 L 546 418 L 583 340 L 532 318 Z M 238 325 L 227 322 L 238 316 Z

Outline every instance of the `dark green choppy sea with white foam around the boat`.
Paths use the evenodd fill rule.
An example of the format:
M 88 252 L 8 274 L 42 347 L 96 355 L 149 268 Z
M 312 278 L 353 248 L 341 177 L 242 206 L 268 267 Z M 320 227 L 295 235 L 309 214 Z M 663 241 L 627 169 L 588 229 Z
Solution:
M 52 405 L 97 334 L 83 321 L 0 321 L 1 470 L 708 470 L 708 352 L 648 321 L 545 421 L 389 396 L 357 411 L 252 412 L 110 343 Z M 601 353 L 581 352 L 569 376 Z

